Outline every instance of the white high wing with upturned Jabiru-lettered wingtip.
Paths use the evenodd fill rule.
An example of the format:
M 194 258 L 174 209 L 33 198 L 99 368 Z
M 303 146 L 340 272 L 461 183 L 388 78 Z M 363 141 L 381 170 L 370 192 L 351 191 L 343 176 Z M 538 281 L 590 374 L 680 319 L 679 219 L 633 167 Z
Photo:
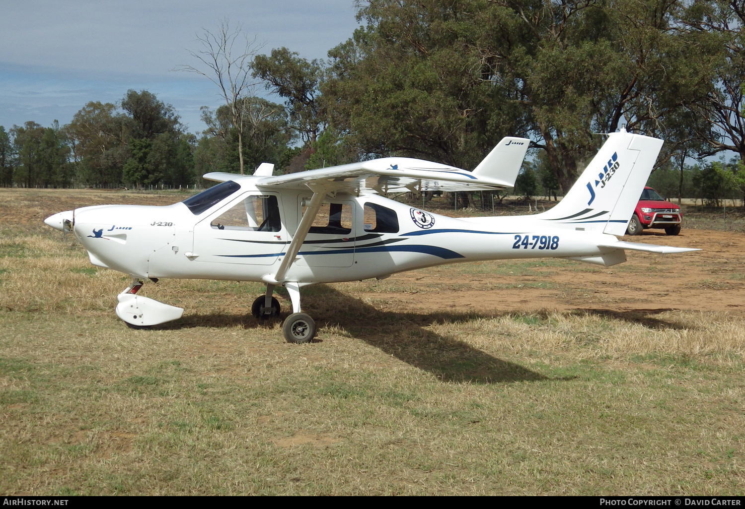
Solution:
M 511 188 L 530 140 L 507 137 L 486 156 L 474 172 L 448 164 L 387 157 L 352 164 L 267 176 L 257 170 L 255 185 L 264 189 L 323 189 L 326 192 L 393 193 L 406 191 L 480 191 Z M 240 179 L 235 173 L 207 173 L 205 179 L 224 182 Z

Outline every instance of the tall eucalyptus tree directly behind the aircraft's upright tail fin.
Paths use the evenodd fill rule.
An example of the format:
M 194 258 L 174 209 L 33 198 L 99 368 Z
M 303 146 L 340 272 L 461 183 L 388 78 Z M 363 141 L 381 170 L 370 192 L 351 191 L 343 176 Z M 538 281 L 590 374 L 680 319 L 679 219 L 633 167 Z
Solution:
M 670 139 L 690 120 L 679 111 L 706 86 L 696 63 L 712 48 L 678 30 L 681 3 L 493 1 L 482 13 L 484 74 L 521 97 L 562 191 L 594 156 L 595 133 L 627 124 Z

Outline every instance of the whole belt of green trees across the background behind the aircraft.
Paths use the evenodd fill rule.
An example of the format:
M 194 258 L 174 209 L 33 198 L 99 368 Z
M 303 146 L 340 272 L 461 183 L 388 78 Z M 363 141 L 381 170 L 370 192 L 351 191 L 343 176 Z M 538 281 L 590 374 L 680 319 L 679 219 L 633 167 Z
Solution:
M 550 195 L 595 155 L 603 140 L 594 133 L 623 124 L 668 141 L 650 179 L 668 196 L 716 202 L 727 190 L 694 183 L 709 169 L 685 164 L 723 150 L 745 161 L 738 2 L 374 0 L 357 9 L 364 26 L 328 62 L 288 48 L 255 55 L 248 41 L 230 58 L 241 27 L 206 32 L 205 52 L 192 56 L 217 73 L 226 104 L 203 108 L 200 139 L 146 90 L 89 102 L 61 129 L 0 127 L 0 185 L 188 185 L 265 161 L 282 173 L 396 155 L 473 168 L 504 135 L 522 135 L 539 149 L 526 166 L 533 192 Z M 250 74 L 285 104 L 247 95 Z M 720 177 L 739 193 L 737 171 Z

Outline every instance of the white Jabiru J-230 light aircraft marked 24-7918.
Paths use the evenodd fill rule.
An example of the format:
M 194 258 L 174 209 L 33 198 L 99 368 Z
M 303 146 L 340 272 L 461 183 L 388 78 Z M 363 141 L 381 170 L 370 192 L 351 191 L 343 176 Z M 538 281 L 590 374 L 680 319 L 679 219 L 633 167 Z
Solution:
M 300 308 L 300 289 L 310 284 L 474 260 L 558 257 L 607 267 L 626 261 L 627 249 L 695 251 L 618 240 L 662 147 L 662 140 L 625 129 L 609 135 L 564 199 L 542 214 L 454 218 L 378 194 L 511 188 L 528 144 L 504 138 L 472 172 L 390 157 L 273 176 L 273 164 L 263 163 L 253 176 L 207 173 L 221 183 L 174 205 L 84 207 L 45 223 L 73 231 L 93 265 L 132 276 L 116 307 L 132 327 L 183 314 L 137 295 L 146 279 L 261 281 L 267 289 L 253 315 L 278 316 L 272 294 L 285 286 L 292 313 L 282 331 L 295 343 L 315 334 Z

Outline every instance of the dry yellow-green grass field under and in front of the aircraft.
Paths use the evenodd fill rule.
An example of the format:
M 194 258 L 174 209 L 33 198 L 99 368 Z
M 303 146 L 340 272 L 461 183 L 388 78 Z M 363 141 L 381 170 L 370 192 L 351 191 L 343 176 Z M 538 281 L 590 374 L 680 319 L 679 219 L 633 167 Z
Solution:
M 308 288 L 319 336 L 289 345 L 246 314 L 261 286 L 184 280 L 146 292 L 184 318 L 130 330 L 127 279 L 19 196 L 0 225 L 0 493 L 745 492 L 740 313 L 417 310 L 381 298 L 416 291 L 394 276 Z M 540 270 L 561 292 L 577 267 L 422 275 Z

